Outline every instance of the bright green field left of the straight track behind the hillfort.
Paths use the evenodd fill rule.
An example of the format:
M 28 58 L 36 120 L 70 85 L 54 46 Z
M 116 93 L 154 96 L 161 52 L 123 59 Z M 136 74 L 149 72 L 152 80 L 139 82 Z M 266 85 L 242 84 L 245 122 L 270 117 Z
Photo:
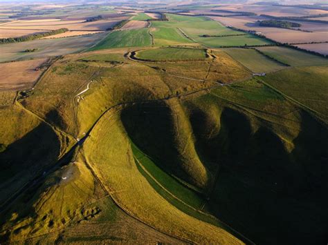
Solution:
M 138 30 L 120 30 L 109 33 L 100 43 L 90 50 L 122 47 L 151 46 L 152 39 L 146 28 Z

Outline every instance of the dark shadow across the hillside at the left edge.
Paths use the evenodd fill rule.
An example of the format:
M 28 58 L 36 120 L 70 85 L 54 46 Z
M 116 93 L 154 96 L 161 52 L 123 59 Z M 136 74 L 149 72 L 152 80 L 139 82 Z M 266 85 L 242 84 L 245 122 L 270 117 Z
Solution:
M 1 199 L 4 201 L 9 197 L 13 197 L 10 199 L 10 202 L 12 202 L 17 197 L 15 193 L 19 188 L 25 184 L 27 186 L 24 190 L 27 187 L 34 186 L 36 184 L 35 179 L 42 176 L 44 171 L 57 162 L 59 154 L 60 141 L 52 128 L 44 123 L 39 124 L 24 137 L 10 144 L 3 153 L 0 153 Z M 15 188 L 12 186 L 15 186 Z M 25 192 L 23 196 L 20 196 L 19 202 L 15 202 L 15 205 L 18 204 L 21 208 L 17 208 L 12 204 L 7 208 L 11 210 L 16 207 L 17 209 L 14 209 L 19 214 L 19 219 L 21 215 L 33 215 L 33 210 L 29 209 L 32 208 L 32 204 L 30 206 L 26 204 L 33 197 L 35 191 L 36 188 L 33 188 L 33 191 Z M 11 213 L 12 210 L 2 213 L 1 217 L 3 218 L 3 215 L 5 215 L 6 218 L 1 219 L 1 222 L 8 220 Z

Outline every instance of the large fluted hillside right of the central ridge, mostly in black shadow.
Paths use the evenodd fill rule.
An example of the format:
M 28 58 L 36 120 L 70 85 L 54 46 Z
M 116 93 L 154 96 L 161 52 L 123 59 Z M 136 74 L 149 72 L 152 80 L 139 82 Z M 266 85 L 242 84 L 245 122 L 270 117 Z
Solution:
M 327 128 L 256 81 L 210 94 L 187 102 L 197 152 L 220 163 L 206 208 L 258 244 L 322 242 Z

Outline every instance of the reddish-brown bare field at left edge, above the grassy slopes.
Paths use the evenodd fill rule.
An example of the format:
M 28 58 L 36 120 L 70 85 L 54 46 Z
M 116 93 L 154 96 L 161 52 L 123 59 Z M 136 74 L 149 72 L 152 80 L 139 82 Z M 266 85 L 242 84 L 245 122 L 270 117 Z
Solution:
M 0 90 L 21 90 L 32 88 L 42 73 L 35 70 L 47 59 L 33 59 L 0 63 Z

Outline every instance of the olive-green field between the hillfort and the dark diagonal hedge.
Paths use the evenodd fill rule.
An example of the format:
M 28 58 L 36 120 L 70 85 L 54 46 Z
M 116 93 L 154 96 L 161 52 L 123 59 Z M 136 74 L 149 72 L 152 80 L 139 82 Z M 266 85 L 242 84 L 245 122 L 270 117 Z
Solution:
M 286 68 L 286 66 L 261 55 L 253 49 L 224 48 L 222 50 L 255 73 L 274 72 Z

